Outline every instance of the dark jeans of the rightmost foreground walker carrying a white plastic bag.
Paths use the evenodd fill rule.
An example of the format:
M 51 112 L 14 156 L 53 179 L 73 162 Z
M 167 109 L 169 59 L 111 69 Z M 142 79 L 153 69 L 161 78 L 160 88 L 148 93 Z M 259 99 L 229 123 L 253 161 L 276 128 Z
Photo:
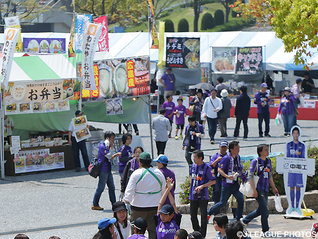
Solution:
M 262 231 L 266 232 L 269 230 L 268 226 L 268 207 L 267 207 L 267 200 L 268 200 L 268 192 L 263 189 L 256 189 L 257 190 L 257 197 L 256 201 L 259 203 L 259 208 L 248 214 L 246 217 L 243 218 L 243 223 L 247 224 L 251 222 L 257 216 L 261 215 L 261 223 L 262 223 Z

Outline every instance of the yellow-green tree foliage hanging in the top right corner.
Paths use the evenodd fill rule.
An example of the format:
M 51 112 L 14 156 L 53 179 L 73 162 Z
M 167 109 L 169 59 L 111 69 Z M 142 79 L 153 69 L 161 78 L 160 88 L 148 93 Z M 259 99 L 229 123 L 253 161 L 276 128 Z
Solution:
M 269 24 L 285 44 L 286 52 L 295 51 L 295 64 L 309 70 L 317 53 L 318 2 L 316 0 L 237 0 L 231 7 L 244 17 L 255 17 L 258 25 Z

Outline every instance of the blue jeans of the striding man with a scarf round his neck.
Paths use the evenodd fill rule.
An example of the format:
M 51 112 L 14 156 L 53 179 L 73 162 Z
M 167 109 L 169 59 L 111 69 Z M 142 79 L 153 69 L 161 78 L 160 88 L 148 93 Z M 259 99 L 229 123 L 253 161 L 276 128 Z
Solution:
M 209 213 L 215 215 L 216 212 L 219 212 L 220 209 L 226 205 L 228 199 L 233 194 L 237 201 L 236 220 L 240 220 L 240 218 L 243 217 L 244 197 L 243 194 L 238 191 L 238 189 L 240 189 L 240 185 L 236 181 L 229 187 L 222 185 L 220 202 L 214 204 Z

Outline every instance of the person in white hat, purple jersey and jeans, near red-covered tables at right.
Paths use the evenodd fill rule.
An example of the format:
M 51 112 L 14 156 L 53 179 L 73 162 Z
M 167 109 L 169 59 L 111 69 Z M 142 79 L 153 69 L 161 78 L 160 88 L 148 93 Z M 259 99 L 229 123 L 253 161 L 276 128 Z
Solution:
M 296 97 L 291 94 L 291 89 L 289 87 L 285 87 L 284 96 L 281 99 L 281 104 L 277 112 L 280 114 L 282 111 L 285 128 L 284 136 L 290 136 L 290 129 L 295 122 L 295 102 Z

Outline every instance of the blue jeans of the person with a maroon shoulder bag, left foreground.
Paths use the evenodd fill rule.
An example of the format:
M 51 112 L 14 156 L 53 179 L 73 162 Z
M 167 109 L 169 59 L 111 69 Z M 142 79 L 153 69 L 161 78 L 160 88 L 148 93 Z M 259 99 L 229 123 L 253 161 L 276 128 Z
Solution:
M 111 202 L 111 205 L 113 205 L 116 202 L 116 195 L 115 195 L 115 185 L 114 185 L 114 179 L 113 175 L 111 172 L 105 172 L 101 171 L 98 180 L 98 186 L 94 195 L 93 199 L 93 206 L 97 207 L 100 206 L 100 198 L 102 193 L 104 192 L 105 185 L 107 183 L 108 187 L 108 194 L 109 194 L 109 199 Z

